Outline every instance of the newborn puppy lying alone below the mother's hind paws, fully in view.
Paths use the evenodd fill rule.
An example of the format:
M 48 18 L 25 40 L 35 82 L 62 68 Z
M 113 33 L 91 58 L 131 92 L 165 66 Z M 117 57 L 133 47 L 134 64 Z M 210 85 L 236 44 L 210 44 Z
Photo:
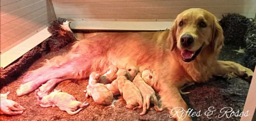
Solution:
M 88 106 L 88 103 L 81 103 L 72 95 L 61 92 L 61 89 L 54 89 L 49 95 L 38 96 L 38 102 L 41 107 L 59 107 L 59 109 L 68 112 L 69 115 L 76 115 Z

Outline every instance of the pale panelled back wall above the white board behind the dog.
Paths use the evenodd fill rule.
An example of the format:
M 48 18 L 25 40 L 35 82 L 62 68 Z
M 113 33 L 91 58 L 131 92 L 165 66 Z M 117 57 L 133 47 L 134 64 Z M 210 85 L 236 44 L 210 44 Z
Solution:
M 254 17 L 256 0 L 52 0 L 57 17 L 81 19 L 174 19 L 189 8 Z

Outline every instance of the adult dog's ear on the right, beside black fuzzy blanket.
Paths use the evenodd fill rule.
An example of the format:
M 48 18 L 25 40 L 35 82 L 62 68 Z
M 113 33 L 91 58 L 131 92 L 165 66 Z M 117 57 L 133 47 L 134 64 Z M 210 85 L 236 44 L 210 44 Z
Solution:
M 212 46 L 215 54 L 219 54 L 222 46 L 224 46 L 223 29 L 215 18 L 212 26 Z

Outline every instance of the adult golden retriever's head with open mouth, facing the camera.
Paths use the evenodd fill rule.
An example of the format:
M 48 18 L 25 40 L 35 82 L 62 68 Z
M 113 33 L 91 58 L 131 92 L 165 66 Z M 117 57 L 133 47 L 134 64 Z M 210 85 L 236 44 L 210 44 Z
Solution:
M 217 56 L 224 44 L 223 30 L 217 18 L 204 9 L 193 8 L 180 13 L 170 31 L 171 50 L 177 46 L 185 62 L 206 51 Z

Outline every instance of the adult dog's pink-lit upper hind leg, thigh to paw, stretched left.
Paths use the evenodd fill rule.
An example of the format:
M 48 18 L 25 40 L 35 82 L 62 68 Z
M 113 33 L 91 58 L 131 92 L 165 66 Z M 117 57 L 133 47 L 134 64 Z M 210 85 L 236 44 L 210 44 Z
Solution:
M 41 68 L 27 73 L 23 79 L 26 83 L 21 84 L 17 95 L 26 95 L 53 78 L 87 78 L 92 71 L 108 66 L 106 56 L 101 57 L 104 53 L 91 40 L 77 42 L 66 55 L 52 58 Z

